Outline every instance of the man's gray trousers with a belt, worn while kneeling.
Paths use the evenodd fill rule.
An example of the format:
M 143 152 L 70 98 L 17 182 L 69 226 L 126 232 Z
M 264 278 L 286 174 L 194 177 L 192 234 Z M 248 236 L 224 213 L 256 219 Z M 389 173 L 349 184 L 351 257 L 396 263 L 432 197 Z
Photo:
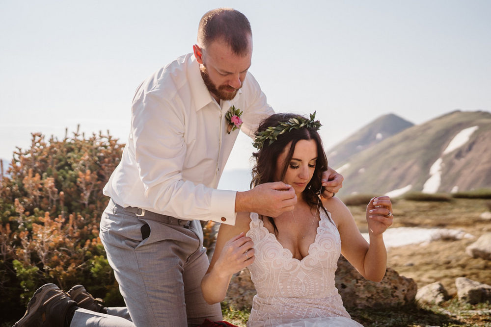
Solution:
M 100 225 L 101 241 L 133 323 L 78 309 L 70 326 L 95 322 L 93 326 L 180 327 L 198 326 L 206 318 L 221 320 L 220 304 L 209 305 L 201 292 L 209 265 L 201 224 L 151 213 L 140 217 L 134 209 L 110 200 Z M 148 227 L 149 236 L 143 239 Z

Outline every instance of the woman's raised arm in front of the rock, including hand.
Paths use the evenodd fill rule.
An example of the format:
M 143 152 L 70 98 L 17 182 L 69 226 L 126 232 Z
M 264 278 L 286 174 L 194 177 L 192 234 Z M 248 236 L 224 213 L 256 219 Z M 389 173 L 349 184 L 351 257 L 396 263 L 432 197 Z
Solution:
M 370 244 L 361 236 L 355 219 L 342 201 L 336 198 L 325 200 L 341 236 L 341 253 L 365 278 L 381 281 L 387 267 L 387 251 L 382 233 L 392 225 L 392 203 L 389 197 L 370 200 L 366 219 Z

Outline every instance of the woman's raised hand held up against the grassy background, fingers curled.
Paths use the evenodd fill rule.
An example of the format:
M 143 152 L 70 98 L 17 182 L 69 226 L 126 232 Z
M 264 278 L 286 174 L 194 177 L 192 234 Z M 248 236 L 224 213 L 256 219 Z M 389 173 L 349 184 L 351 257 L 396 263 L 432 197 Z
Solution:
M 370 200 L 366 213 L 368 229 L 372 235 L 382 234 L 392 225 L 392 202 L 387 196 L 376 197 Z

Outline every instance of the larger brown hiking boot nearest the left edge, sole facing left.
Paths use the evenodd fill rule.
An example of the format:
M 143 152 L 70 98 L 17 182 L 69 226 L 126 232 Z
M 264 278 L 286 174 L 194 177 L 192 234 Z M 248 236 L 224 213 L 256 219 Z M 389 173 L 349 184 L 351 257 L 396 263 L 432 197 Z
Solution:
M 70 320 L 77 303 L 70 300 L 65 292 L 55 284 L 45 284 L 37 289 L 27 303 L 24 316 L 15 323 L 14 327 L 64 327 L 69 326 L 67 313 L 70 312 Z

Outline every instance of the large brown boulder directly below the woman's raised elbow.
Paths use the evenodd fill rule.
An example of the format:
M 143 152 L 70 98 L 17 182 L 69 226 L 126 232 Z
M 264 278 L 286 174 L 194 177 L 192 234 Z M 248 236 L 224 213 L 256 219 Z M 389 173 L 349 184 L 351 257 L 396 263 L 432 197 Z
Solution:
M 380 283 L 369 281 L 341 256 L 336 271 L 336 287 L 345 307 L 394 307 L 414 301 L 417 291 L 412 278 L 400 276 L 395 270 L 387 268 Z

